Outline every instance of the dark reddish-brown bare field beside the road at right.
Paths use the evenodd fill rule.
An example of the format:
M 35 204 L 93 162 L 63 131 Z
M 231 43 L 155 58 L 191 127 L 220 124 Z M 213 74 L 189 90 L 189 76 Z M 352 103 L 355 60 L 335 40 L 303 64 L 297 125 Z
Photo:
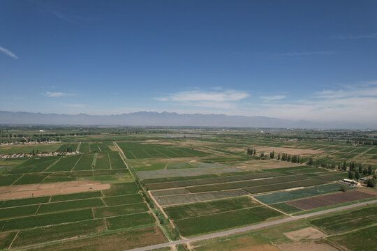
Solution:
M 330 206 L 359 199 L 368 199 L 372 197 L 376 197 L 376 195 L 371 195 L 370 193 L 362 192 L 362 190 L 352 190 L 349 192 L 337 192 L 330 195 L 321 195 L 308 199 L 297 199 L 295 201 L 288 201 L 287 203 L 291 206 L 295 206 L 303 210 L 309 210 L 313 208 Z

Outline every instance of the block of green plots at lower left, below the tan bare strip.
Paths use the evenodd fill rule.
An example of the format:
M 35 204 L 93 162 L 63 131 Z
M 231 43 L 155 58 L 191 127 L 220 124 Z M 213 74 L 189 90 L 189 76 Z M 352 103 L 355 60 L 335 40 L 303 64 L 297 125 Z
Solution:
M 102 192 L 0 202 L 0 238 L 2 241 L 3 238 L 12 237 L 11 248 L 100 234 L 108 230 L 150 229 L 155 224 L 135 183 L 117 183 L 110 190 Z M 157 240 L 164 241 L 163 235 L 159 235 Z M 153 243 L 153 238 L 151 241 Z M 8 242 L 4 241 L 2 248 L 8 248 L 6 244 Z

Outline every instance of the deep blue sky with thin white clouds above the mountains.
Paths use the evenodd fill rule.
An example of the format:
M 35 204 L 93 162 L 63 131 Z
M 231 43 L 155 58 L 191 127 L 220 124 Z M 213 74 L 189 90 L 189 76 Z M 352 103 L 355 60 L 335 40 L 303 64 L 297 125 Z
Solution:
M 0 1 L 0 110 L 377 124 L 377 1 Z

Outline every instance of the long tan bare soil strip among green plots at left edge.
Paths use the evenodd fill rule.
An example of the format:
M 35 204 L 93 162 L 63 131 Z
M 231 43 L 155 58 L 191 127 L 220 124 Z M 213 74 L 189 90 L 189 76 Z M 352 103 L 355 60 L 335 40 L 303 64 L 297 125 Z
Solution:
M 109 189 L 110 184 L 100 181 L 67 181 L 47 184 L 11 185 L 0 187 L 0 200 L 22 199 L 45 195 L 66 195 Z

